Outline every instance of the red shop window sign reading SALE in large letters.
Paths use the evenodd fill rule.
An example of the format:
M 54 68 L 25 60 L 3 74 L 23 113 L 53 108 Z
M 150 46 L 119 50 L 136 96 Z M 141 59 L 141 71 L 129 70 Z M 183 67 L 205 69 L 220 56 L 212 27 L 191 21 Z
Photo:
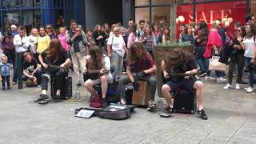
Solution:
M 246 16 L 246 1 L 231 1 L 231 2 L 210 2 L 204 4 L 196 4 L 195 22 L 199 23 L 205 21 L 209 28 L 214 20 L 222 20 L 223 18 L 232 18 L 233 22 L 230 24 L 230 29 L 234 29 L 236 22 L 245 22 Z M 183 16 L 184 22 L 193 22 L 193 5 L 181 5 L 178 6 L 177 17 Z

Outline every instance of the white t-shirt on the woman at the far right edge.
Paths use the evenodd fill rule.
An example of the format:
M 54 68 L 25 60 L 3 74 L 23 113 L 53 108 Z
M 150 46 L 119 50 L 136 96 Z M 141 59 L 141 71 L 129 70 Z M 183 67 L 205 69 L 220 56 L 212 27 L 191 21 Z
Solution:
M 244 56 L 248 58 L 254 57 L 254 50 L 256 46 L 256 42 L 254 41 L 254 37 L 252 38 L 243 38 L 242 43 L 246 45 L 246 51 Z

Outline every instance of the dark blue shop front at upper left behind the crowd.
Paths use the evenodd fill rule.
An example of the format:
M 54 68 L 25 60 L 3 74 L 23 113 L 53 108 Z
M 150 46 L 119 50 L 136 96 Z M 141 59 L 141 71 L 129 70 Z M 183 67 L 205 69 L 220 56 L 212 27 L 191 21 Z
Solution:
M 0 0 L 0 27 L 6 28 L 15 24 L 25 26 L 30 32 L 32 27 L 66 26 L 75 17 L 74 6 L 79 0 Z M 81 6 L 81 5 L 79 5 Z M 78 10 L 77 10 L 78 11 Z M 76 13 L 77 14 L 77 13 Z M 79 17 L 78 17 L 79 18 Z

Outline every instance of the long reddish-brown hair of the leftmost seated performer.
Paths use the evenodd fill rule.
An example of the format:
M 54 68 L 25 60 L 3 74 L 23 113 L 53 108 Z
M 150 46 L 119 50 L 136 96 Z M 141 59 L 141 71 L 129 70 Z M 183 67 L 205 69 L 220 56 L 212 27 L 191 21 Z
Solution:
M 50 40 L 50 44 L 45 51 L 46 58 L 58 59 L 62 56 L 62 50 L 63 48 L 61 42 L 59 42 L 58 38 L 53 38 Z

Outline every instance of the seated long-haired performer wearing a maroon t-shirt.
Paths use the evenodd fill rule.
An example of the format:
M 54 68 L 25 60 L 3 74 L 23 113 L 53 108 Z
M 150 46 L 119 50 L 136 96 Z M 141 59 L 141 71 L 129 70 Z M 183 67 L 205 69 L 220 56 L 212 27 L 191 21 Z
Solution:
M 153 111 L 156 107 L 154 104 L 154 94 L 156 91 L 156 78 L 154 76 L 154 72 L 157 69 L 154 65 L 153 58 L 149 53 L 146 52 L 141 42 L 134 42 L 134 44 L 130 46 L 127 61 L 127 75 L 118 81 L 118 90 L 120 92 L 121 103 L 126 104 L 125 85 L 131 82 L 134 85 L 134 90 L 138 90 L 138 80 L 144 80 L 148 82 L 148 89 L 150 90 L 148 110 Z

